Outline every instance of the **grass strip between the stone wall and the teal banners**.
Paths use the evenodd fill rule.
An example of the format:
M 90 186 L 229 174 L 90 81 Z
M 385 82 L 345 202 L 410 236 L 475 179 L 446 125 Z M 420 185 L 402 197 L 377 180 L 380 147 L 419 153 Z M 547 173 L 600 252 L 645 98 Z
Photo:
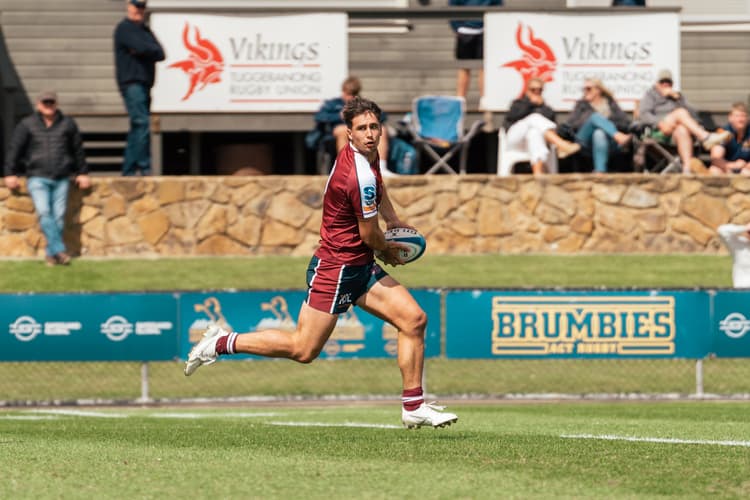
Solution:
M 77 259 L 68 268 L 0 261 L 2 292 L 303 289 L 307 257 Z M 411 287 L 729 287 L 711 255 L 426 255 L 387 270 Z

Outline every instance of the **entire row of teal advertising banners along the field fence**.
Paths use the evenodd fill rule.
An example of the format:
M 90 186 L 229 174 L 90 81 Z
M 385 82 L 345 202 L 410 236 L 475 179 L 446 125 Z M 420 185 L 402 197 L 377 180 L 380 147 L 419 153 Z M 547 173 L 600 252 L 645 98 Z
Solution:
M 750 290 L 412 294 L 429 318 L 427 357 L 750 357 Z M 0 295 L 0 361 L 185 359 L 211 323 L 239 332 L 293 330 L 304 297 L 302 291 Z M 396 351 L 395 328 L 355 307 L 339 317 L 321 358 L 389 358 Z

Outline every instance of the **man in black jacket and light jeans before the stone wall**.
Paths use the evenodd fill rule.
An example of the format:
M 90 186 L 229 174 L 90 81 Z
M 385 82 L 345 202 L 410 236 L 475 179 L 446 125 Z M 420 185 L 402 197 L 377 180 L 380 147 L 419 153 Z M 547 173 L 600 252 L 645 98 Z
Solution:
M 70 256 L 63 242 L 65 209 L 68 206 L 69 176 L 81 189 L 91 185 L 83 141 L 75 121 L 57 109 L 57 94 L 39 95 L 36 113 L 21 120 L 5 159 L 5 185 L 15 190 L 24 170 L 27 188 L 39 216 L 39 225 L 47 240 L 48 266 L 67 265 Z

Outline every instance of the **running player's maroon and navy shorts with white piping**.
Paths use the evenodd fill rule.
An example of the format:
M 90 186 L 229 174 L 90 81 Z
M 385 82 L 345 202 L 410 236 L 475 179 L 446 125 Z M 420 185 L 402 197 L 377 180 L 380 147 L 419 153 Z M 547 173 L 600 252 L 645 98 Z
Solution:
M 318 311 L 341 314 L 388 273 L 374 260 L 353 266 L 322 261 L 313 256 L 307 266 L 307 299 Z

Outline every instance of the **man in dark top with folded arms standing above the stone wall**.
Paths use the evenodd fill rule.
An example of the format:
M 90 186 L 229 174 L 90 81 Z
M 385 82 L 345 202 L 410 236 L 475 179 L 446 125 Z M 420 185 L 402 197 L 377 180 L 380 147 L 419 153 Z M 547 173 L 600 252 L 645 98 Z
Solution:
M 151 87 L 164 49 L 145 23 L 146 0 L 127 0 L 127 15 L 115 28 L 117 85 L 130 117 L 122 175 L 151 174 Z

